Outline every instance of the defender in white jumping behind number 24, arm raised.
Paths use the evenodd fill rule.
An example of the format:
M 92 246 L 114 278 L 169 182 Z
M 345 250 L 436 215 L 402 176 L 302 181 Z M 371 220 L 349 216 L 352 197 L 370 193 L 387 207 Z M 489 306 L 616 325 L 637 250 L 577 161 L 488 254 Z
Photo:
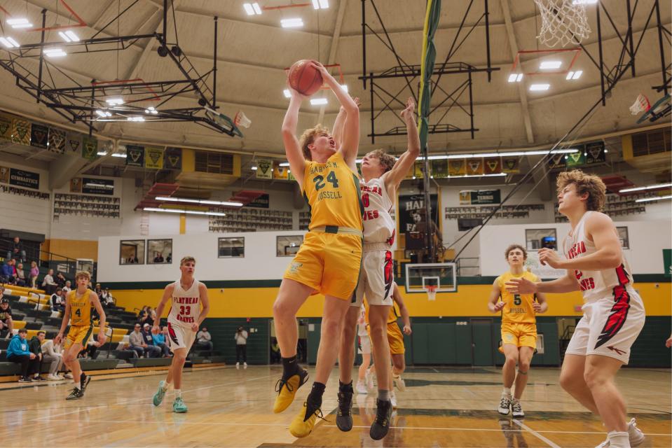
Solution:
M 380 440 L 388 433 L 392 403 L 390 401 L 390 346 L 388 344 L 388 316 L 392 305 L 393 269 L 392 244 L 395 241 L 395 220 L 390 212 L 395 207 L 397 188 L 420 154 L 420 137 L 416 127 L 415 103 L 412 98 L 406 102 L 401 113 L 408 132 L 408 148 L 395 162 L 395 158 L 381 149 L 366 154 L 362 159 L 362 176 L 359 183 L 364 204 L 364 253 L 359 283 L 350 311 L 343 325 L 343 339 L 338 364 L 341 381 L 338 391 L 338 412 L 336 426 L 343 431 L 352 428 L 352 365 L 355 353 L 352 342 L 355 339 L 357 316 L 366 295 L 369 304 L 369 325 L 373 358 L 376 360 L 378 378 L 378 400 L 376 419 L 371 423 L 369 435 Z

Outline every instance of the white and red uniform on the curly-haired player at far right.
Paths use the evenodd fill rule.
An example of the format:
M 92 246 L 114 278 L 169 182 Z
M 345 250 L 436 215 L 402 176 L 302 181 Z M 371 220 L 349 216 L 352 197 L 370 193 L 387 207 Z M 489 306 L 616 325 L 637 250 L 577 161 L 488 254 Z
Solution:
M 586 234 L 586 220 L 594 211 L 587 211 L 563 241 L 568 259 L 596 252 Z M 630 349 L 644 326 L 646 313 L 641 297 L 633 287 L 632 272 L 627 260 L 615 269 L 574 271 L 584 297 L 584 316 L 577 324 L 565 353 L 602 355 L 627 364 Z

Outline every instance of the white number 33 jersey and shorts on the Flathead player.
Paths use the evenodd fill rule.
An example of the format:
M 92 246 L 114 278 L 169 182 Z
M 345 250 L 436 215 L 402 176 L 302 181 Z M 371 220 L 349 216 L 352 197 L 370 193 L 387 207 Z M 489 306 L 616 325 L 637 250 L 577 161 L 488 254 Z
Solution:
M 191 286 L 184 290 L 177 280 L 172 290 L 172 302 L 168 314 L 168 346 L 175 349 L 191 349 L 196 332 L 191 325 L 198 323 L 200 316 L 200 281 L 193 279 Z

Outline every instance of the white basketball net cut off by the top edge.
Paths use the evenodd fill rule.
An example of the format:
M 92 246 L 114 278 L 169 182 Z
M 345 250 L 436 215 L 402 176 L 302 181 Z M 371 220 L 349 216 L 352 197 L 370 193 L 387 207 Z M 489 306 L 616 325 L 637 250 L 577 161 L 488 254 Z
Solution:
M 542 15 L 537 38 L 547 47 L 580 43 L 590 34 L 584 0 L 535 0 Z

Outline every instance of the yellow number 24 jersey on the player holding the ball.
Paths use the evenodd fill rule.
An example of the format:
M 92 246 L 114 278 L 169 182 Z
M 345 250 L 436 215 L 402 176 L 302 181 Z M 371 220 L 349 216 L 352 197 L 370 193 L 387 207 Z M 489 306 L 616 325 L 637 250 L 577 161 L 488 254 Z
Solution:
M 345 164 L 340 151 L 326 163 L 306 160 L 303 197 L 310 207 L 309 229 L 336 225 L 362 230 L 359 177 Z

